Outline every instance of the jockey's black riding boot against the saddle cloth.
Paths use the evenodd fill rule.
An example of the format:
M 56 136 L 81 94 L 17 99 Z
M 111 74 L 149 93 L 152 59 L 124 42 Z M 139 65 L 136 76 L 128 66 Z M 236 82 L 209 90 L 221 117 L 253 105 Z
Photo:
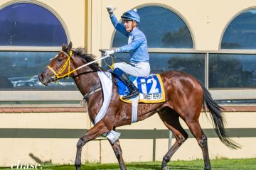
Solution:
M 124 84 L 126 84 L 129 88 L 129 94 L 123 96 L 123 99 L 130 99 L 139 95 L 139 89 L 137 89 L 137 87 L 134 86 L 134 84 L 132 83 L 132 81 L 129 80 L 126 74 L 122 74 L 119 77 L 119 79 L 121 79 L 124 82 Z

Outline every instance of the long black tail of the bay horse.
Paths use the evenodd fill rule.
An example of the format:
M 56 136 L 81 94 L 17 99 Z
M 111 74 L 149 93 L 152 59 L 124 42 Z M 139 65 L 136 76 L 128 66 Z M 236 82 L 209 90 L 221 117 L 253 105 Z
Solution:
M 201 84 L 201 83 L 200 83 Z M 206 106 L 208 111 L 210 112 L 210 118 L 212 119 L 214 130 L 217 133 L 219 139 L 223 144 L 225 144 L 230 149 L 238 149 L 240 145 L 233 142 L 225 131 L 225 118 L 222 113 L 223 108 L 218 105 L 210 95 L 210 92 L 206 89 L 203 84 L 201 84 L 203 89 L 203 111 L 206 112 Z

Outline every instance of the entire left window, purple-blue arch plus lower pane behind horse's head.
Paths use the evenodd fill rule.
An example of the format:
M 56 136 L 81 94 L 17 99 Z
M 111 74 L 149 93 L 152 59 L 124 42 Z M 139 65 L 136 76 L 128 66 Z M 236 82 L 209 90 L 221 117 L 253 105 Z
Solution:
M 38 74 L 47 66 L 63 43 L 65 29 L 48 9 L 30 3 L 16 3 L 0 10 L 0 90 L 76 90 L 73 79 L 43 86 Z M 22 47 L 23 51 L 17 50 Z M 41 49 L 44 50 L 41 50 Z

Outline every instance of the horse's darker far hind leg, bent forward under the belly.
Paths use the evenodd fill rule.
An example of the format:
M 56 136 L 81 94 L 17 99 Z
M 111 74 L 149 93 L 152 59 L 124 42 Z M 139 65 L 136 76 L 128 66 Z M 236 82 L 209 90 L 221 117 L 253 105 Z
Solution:
M 161 168 L 166 170 L 169 169 L 167 163 L 170 161 L 176 150 L 178 150 L 183 142 L 188 139 L 188 134 L 182 128 L 181 123 L 178 120 L 179 115 L 171 108 L 163 108 L 161 111 L 159 111 L 159 116 L 164 122 L 164 125 L 166 125 L 166 127 L 171 130 L 176 137 L 176 142 L 163 157 Z

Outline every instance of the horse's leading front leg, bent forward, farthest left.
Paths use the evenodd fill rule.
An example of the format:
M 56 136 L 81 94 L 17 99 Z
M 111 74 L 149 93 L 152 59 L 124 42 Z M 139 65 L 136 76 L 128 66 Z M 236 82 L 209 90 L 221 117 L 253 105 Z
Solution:
M 100 135 L 109 132 L 110 130 L 107 129 L 105 124 L 100 121 L 95 126 L 93 126 L 90 130 L 87 131 L 87 133 L 80 137 L 77 144 L 77 153 L 75 157 L 75 168 L 76 170 L 81 169 L 81 152 L 82 147 L 89 142 L 90 140 L 94 140 L 96 137 L 99 137 Z

